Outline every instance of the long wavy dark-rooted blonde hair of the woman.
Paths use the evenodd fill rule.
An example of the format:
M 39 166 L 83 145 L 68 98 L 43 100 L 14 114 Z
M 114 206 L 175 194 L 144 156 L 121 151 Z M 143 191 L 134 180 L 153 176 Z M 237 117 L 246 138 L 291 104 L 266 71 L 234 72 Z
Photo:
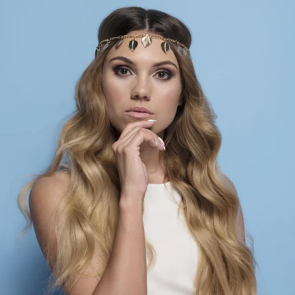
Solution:
M 191 33 L 176 17 L 153 9 L 123 7 L 100 24 L 98 40 L 146 30 L 191 46 Z M 18 195 L 26 233 L 32 225 L 26 195 L 40 178 L 52 175 L 68 159 L 69 185 L 56 215 L 57 253 L 49 292 L 63 286 L 70 290 L 91 262 L 94 245 L 99 245 L 102 276 L 112 251 L 118 219 L 120 180 L 112 144 L 115 130 L 108 119 L 101 84 L 103 62 L 116 43 L 91 61 L 75 87 L 76 110 L 63 125 L 54 158 L 44 173 L 35 175 Z M 187 228 L 199 245 L 199 262 L 194 280 L 196 295 L 256 295 L 256 260 L 252 247 L 240 241 L 236 231 L 239 199 L 221 173 L 217 155 L 221 146 L 212 107 L 196 77 L 189 54 L 171 44 L 180 65 L 183 103 L 165 129 L 165 176 L 181 196 L 181 210 Z M 94 51 L 93 51 L 94 54 Z M 177 168 L 177 169 L 176 169 Z M 232 182 L 231 182 L 232 183 Z M 249 235 L 250 236 L 250 235 Z M 48 244 L 50 246 L 50 242 Z M 156 250 L 146 239 L 150 254 Z M 85 250 L 87 249 L 87 251 Z

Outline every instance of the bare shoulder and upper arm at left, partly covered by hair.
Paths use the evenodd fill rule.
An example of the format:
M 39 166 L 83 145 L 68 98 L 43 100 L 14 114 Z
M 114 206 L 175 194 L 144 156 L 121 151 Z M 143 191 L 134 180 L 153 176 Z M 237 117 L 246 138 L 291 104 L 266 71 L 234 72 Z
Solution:
M 50 269 L 56 262 L 57 240 L 55 236 L 55 213 L 59 201 L 64 196 L 70 181 L 70 174 L 66 170 L 55 172 L 48 177 L 36 181 L 29 193 L 29 209 L 32 217 L 35 234 L 40 249 Z M 49 240 L 50 238 L 50 240 Z M 50 241 L 50 243 L 49 243 Z M 92 266 L 102 265 L 101 253 L 97 244 L 91 260 Z M 97 286 L 100 277 L 88 277 L 93 274 L 93 267 L 89 265 L 75 285 L 71 295 L 91 295 Z M 64 294 L 66 293 L 63 290 Z

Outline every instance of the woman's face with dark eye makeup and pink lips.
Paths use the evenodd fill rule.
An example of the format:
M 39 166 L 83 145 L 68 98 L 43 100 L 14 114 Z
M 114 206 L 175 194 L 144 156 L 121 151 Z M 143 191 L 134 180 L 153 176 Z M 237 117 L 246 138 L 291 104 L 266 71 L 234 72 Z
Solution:
M 148 32 L 132 31 L 128 34 L 146 35 Z M 131 40 L 125 38 L 118 48 L 112 47 L 104 61 L 102 88 L 109 119 L 119 133 L 127 123 L 155 119 L 157 122 L 151 130 L 159 134 L 171 124 L 177 106 L 181 104 L 179 65 L 172 49 L 167 54 L 161 49 L 164 40 L 152 39 L 151 45 L 145 48 L 141 38 L 136 38 L 138 46 L 134 52 L 128 47 Z M 170 64 L 154 65 L 162 61 Z M 153 115 L 147 118 L 128 116 L 125 111 L 136 106 L 147 108 Z

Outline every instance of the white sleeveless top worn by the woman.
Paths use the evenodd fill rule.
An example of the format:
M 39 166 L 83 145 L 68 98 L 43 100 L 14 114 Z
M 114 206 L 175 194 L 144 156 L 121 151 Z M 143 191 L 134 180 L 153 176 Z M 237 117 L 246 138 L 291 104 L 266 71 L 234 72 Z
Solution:
M 147 274 L 148 295 L 194 294 L 198 245 L 188 232 L 182 214 L 177 215 L 176 202 L 180 200 L 170 181 L 165 184 L 148 183 L 144 199 L 144 228 L 157 254 L 155 264 L 150 266 Z

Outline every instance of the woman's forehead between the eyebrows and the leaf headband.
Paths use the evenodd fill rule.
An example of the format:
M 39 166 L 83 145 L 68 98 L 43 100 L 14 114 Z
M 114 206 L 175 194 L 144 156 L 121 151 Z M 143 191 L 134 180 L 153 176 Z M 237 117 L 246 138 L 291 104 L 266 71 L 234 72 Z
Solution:
M 171 60 L 178 66 L 177 58 L 172 49 L 170 48 L 167 54 L 162 50 L 161 43 L 164 42 L 164 40 L 151 39 L 151 44 L 145 48 L 142 43 L 142 38 L 135 38 L 138 45 L 134 51 L 131 51 L 128 46 L 131 40 L 132 38 L 124 38 L 123 42 L 118 47 L 113 46 L 107 55 L 107 61 L 120 55 L 133 60 L 135 63 L 154 63 L 162 60 Z

